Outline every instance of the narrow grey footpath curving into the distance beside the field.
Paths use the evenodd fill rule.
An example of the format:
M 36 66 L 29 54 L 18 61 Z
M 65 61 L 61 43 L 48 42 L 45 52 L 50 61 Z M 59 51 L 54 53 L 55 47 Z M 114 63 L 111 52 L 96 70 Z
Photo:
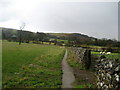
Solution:
M 75 76 L 73 74 L 72 68 L 68 65 L 67 59 L 68 51 L 66 49 L 64 58 L 62 60 L 62 88 L 73 88 L 72 83 L 75 81 Z

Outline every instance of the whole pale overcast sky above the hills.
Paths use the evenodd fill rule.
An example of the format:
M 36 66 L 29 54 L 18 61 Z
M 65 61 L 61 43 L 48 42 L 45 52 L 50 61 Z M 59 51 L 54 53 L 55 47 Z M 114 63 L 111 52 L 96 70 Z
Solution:
M 0 0 L 0 27 L 19 29 L 22 22 L 33 32 L 118 39 L 118 0 Z

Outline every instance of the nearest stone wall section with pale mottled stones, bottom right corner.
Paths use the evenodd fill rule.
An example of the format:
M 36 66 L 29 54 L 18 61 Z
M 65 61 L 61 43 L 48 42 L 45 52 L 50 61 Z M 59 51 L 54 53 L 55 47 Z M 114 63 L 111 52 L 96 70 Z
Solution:
M 96 65 L 97 88 L 120 89 L 120 61 L 101 59 Z

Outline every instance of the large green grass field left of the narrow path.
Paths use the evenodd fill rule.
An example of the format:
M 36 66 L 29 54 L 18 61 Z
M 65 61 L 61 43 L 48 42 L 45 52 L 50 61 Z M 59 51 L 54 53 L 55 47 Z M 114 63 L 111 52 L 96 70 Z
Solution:
M 60 88 L 65 48 L 3 41 L 3 88 Z

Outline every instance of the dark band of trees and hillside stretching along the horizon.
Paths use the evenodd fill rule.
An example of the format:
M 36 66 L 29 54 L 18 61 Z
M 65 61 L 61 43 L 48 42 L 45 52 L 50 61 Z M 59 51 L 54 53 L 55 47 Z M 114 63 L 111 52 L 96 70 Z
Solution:
M 21 37 L 21 38 L 20 38 Z M 79 34 L 79 33 L 71 33 L 66 34 L 64 36 L 51 35 L 50 33 L 43 32 L 30 32 L 25 30 L 16 30 L 16 29 L 7 29 L 2 28 L 2 39 L 8 41 L 16 41 L 23 43 L 29 43 L 32 41 L 33 43 L 43 43 L 49 42 L 67 45 L 67 46 L 80 46 L 80 45 L 96 45 L 96 46 L 107 46 L 107 47 L 120 47 L 120 42 L 117 40 L 111 39 L 97 39 L 93 37 L 89 37 L 87 35 Z M 59 41 L 58 41 L 59 39 Z M 63 41 L 60 41 L 63 40 Z M 66 40 L 67 42 L 65 42 Z

